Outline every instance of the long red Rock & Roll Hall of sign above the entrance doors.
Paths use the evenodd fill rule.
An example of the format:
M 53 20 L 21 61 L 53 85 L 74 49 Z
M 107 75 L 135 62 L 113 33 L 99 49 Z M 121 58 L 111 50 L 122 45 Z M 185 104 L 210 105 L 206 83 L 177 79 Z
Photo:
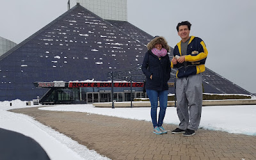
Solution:
M 132 87 L 143 87 L 144 83 L 134 82 L 132 83 Z M 111 83 L 81 83 L 81 82 L 70 82 L 68 83 L 69 88 L 77 88 L 77 87 L 111 87 Z M 131 83 L 114 83 L 113 87 L 131 87 Z

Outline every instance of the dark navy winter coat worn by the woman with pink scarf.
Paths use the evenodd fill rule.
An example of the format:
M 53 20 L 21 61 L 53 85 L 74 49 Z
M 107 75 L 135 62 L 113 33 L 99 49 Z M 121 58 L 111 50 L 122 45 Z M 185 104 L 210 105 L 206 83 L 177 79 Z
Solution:
M 170 58 L 166 56 L 158 58 L 148 50 L 145 54 L 142 71 L 147 77 L 146 90 L 163 91 L 168 90 L 168 80 L 170 79 Z M 152 75 L 152 79 L 150 76 Z

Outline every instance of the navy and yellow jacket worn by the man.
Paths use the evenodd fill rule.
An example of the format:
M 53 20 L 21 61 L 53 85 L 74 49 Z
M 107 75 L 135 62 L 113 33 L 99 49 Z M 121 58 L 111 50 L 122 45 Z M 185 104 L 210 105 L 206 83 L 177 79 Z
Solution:
M 180 47 L 181 41 L 174 47 L 173 56 L 184 56 Z M 205 71 L 205 60 L 207 58 L 208 51 L 201 38 L 191 36 L 188 42 L 187 55 L 185 55 L 185 61 L 187 66 L 184 67 L 183 63 L 177 62 L 173 65 L 171 62 L 171 68 L 177 68 L 176 77 L 188 77 L 190 75 L 199 74 Z

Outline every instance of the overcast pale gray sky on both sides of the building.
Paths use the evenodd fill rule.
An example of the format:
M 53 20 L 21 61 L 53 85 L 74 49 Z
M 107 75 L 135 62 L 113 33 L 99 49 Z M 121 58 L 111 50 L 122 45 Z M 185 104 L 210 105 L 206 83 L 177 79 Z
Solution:
M 0 0 L 0 36 L 19 44 L 67 11 L 67 0 Z M 206 67 L 256 93 L 255 0 L 127 0 L 128 21 L 152 36 L 180 41 L 178 22 L 207 46 Z

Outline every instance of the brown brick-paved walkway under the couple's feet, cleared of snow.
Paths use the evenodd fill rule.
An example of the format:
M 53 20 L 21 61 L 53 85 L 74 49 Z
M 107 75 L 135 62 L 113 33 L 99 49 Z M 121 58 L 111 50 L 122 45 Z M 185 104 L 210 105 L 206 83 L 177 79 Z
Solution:
M 33 116 L 110 159 L 256 159 L 256 136 L 199 129 L 184 137 L 170 133 L 175 125 L 164 125 L 168 134 L 156 135 L 151 122 L 140 120 L 37 108 L 12 111 Z

